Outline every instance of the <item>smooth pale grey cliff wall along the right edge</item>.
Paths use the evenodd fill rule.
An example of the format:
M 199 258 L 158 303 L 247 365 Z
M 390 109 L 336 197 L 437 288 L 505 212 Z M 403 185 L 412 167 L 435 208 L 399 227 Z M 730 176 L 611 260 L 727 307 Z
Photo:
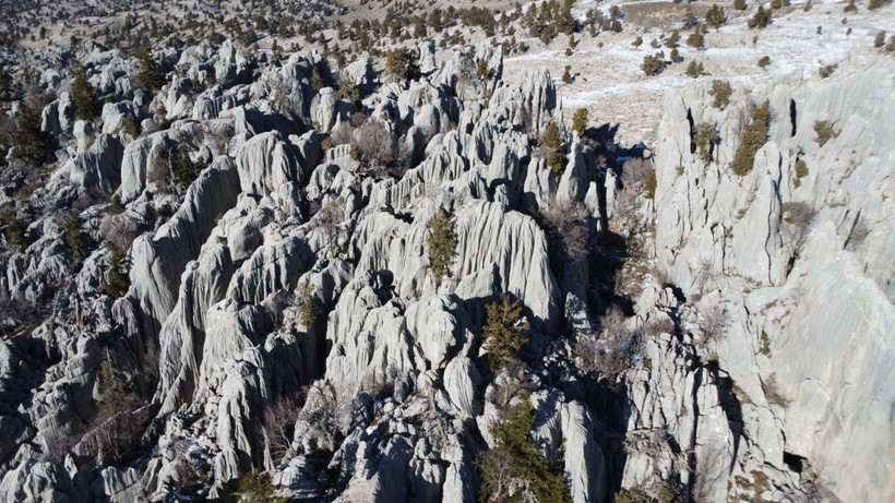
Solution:
M 735 86 L 724 110 L 696 87 L 667 100 L 656 147 L 658 264 L 688 296 L 717 295 L 730 310 L 719 363 L 744 418 L 773 418 L 753 434 L 780 439 L 769 451 L 751 439 L 759 460 L 806 458 L 843 501 L 893 496 L 892 72 L 873 58 L 824 80 Z M 768 141 L 737 176 L 749 104 L 764 100 Z M 823 121 L 838 135 L 822 145 Z M 708 163 L 693 143 L 700 123 L 717 132 Z

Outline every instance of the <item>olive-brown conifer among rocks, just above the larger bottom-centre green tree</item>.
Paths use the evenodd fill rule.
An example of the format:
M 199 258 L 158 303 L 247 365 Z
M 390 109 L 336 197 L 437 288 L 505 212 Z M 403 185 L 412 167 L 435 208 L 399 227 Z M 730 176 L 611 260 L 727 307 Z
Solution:
M 520 349 L 525 344 L 522 331 L 528 322 L 522 315 L 518 301 L 511 301 L 504 294 L 501 300 L 486 306 L 488 312 L 481 335 L 488 351 L 488 366 L 499 372 L 516 361 Z

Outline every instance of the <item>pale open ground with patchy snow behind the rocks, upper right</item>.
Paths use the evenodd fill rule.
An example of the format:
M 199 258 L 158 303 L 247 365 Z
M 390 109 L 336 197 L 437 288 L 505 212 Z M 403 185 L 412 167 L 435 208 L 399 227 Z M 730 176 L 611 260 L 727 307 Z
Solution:
M 583 19 L 590 8 L 609 12 L 613 4 L 622 11 L 625 5 L 643 5 L 647 2 L 596 2 L 584 0 L 576 3 L 574 13 Z M 657 11 L 681 9 L 671 2 L 649 2 Z M 849 58 L 863 58 L 879 51 L 873 39 L 880 31 L 886 37 L 895 35 L 895 7 L 869 11 L 867 1 L 857 2 L 858 12 L 845 13 L 845 1 L 814 1 L 806 12 L 803 2 L 773 11 L 774 22 L 764 29 L 749 29 L 748 20 L 757 4 L 750 2 L 747 11 L 732 10 L 731 2 L 718 2 L 725 8 L 728 22 L 717 32 L 709 28 L 705 35 L 705 48 L 687 46 L 690 31 L 680 29 L 678 47 L 683 62 L 669 65 L 657 76 L 646 76 L 640 65 L 644 56 L 664 50 L 668 58 L 671 49 L 649 47 L 654 38 L 663 41 L 665 32 L 639 25 L 624 20 L 624 31 L 620 34 L 600 33 L 590 37 L 587 33 L 575 35 L 577 45 L 572 56 L 565 56 L 568 38 L 559 36 L 548 47 L 536 39 L 526 39 L 517 33 L 520 41 L 529 45 L 528 52 L 504 60 L 504 75 L 530 69 L 533 64 L 548 68 L 557 80 L 559 96 L 565 120 L 571 120 L 572 110 L 586 107 L 590 122 L 595 125 L 611 123 L 619 125 L 617 140 L 633 144 L 639 141 L 655 141 L 656 128 L 660 119 L 661 103 L 669 93 L 688 85 L 709 85 L 713 79 L 725 79 L 735 86 L 753 86 L 774 75 L 799 73 L 802 77 L 816 75 L 826 64 L 836 64 Z M 703 12 L 712 3 L 690 4 L 693 13 Z M 769 3 L 765 4 L 769 8 Z M 670 26 L 681 28 L 677 13 L 669 13 Z M 676 17 L 677 16 L 677 17 Z M 818 27 L 821 33 L 818 33 Z M 849 33 L 850 29 L 850 33 Z M 637 36 L 643 45 L 634 49 L 631 43 Z M 753 45 L 753 37 L 757 37 Z M 601 46 L 600 46 L 601 44 Z M 759 58 L 768 56 L 771 64 L 762 70 Z M 702 62 L 705 74 L 699 79 L 685 75 L 687 64 L 695 60 Z M 560 81 L 565 65 L 571 67 L 575 79 L 564 84 Z

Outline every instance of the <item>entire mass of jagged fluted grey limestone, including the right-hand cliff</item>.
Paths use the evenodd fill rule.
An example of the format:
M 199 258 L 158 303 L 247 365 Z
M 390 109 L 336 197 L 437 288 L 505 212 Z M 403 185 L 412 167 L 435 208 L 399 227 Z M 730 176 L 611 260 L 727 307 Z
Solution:
M 177 58 L 213 86 L 118 93 L 74 122 L 34 199 L 124 207 L 69 228 L 43 213 L 0 256 L 2 298 L 45 304 L 2 320 L 0 501 L 228 501 L 261 470 L 299 500 L 472 502 L 523 400 L 522 436 L 576 503 L 895 499 L 891 60 L 735 86 L 724 110 L 694 85 L 651 159 L 562 125 L 544 145 L 561 119 L 548 73 L 504 81 L 482 46 L 473 77 L 472 56 L 431 50 L 414 82 L 366 61 L 334 75 L 370 117 L 314 88 L 331 70 L 313 55 L 225 45 Z M 765 100 L 768 140 L 735 175 Z M 158 172 L 184 164 L 206 167 Z M 655 169 L 652 201 L 636 166 Z M 525 344 L 499 369 L 486 326 L 503 299 Z

